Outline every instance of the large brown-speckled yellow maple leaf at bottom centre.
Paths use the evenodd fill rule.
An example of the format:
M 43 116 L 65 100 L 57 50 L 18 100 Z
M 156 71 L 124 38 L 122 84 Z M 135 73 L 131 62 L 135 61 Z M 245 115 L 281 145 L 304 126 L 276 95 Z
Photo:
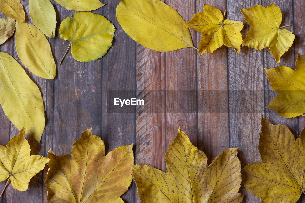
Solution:
M 210 166 L 183 131 L 170 143 L 165 154 L 164 173 L 152 166 L 134 165 L 132 175 L 143 203 L 241 202 L 240 161 L 237 148 L 224 150 Z

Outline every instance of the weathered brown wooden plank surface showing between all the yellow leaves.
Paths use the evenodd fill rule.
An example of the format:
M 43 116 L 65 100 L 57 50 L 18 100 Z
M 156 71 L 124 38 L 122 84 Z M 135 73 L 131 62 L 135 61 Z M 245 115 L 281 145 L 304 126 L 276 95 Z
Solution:
M 21 1 L 28 11 L 28 1 Z M 109 152 L 120 145 L 134 143 L 135 163 L 152 165 L 165 170 L 167 147 L 176 136 L 178 126 L 191 142 L 203 150 L 208 163 L 229 147 L 239 147 L 242 167 L 259 162 L 257 150 L 262 116 L 274 124 L 286 124 L 298 136 L 305 127 L 305 118 L 285 119 L 267 109 L 276 96 L 267 80 L 264 68 L 287 65 L 295 68 L 296 54 L 305 55 L 305 2 L 303 0 L 165 0 L 186 20 L 192 14 L 203 12 L 205 4 L 213 5 L 227 19 L 244 22 L 242 36 L 246 36 L 249 24 L 245 23 L 239 8 L 275 3 L 283 12 L 283 25 L 296 34 L 290 50 L 275 63 L 268 49 L 262 51 L 242 47 L 241 53 L 221 47 L 213 54 L 198 56 L 195 49 L 186 48 L 160 53 L 137 44 L 127 36 L 117 22 L 115 9 L 120 0 L 106 2 L 94 11 L 109 19 L 116 27 L 115 40 L 109 52 L 99 60 L 81 63 L 72 55 L 66 56 L 63 65 L 57 67 L 55 80 L 41 79 L 29 71 L 30 78 L 41 89 L 45 110 L 46 128 L 41 143 L 27 136 L 31 153 L 47 156 L 51 148 L 56 154 L 67 154 L 82 131 L 92 127 Z M 55 38 L 49 38 L 56 63 L 62 58 L 69 43 L 60 39 L 60 22 L 74 11 L 64 9 L 52 2 L 56 9 L 57 27 Z M 1 14 L 0 17 L 4 17 Z M 31 23 L 27 12 L 28 23 Z M 200 33 L 191 30 L 194 45 L 201 40 Z M 20 62 L 14 37 L 0 46 Z M 109 112 L 113 101 L 107 98 L 111 90 L 131 90 L 130 96 L 145 100 L 144 106 L 135 107 L 128 113 Z M 126 99 L 126 98 L 125 98 Z M 6 143 L 18 130 L 9 122 L 0 107 L 0 144 Z M 11 185 L 6 189 L 0 203 L 48 202 L 44 184 L 48 168 L 30 181 L 28 191 L 15 191 Z M 0 183 L 0 188 L 4 187 Z M 134 183 L 122 196 L 126 202 L 140 202 Z M 260 202 L 246 191 L 244 202 Z M 299 202 L 305 202 L 302 196 Z

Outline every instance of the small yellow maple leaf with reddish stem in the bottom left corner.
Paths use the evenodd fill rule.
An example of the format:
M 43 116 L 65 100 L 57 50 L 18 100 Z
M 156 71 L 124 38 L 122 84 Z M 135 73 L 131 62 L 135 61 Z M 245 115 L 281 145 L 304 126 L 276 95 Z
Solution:
M 22 128 L 5 146 L 0 145 L 0 181 L 10 178 L 15 190 L 26 191 L 30 179 L 45 168 L 49 158 L 30 155 L 31 148 Z

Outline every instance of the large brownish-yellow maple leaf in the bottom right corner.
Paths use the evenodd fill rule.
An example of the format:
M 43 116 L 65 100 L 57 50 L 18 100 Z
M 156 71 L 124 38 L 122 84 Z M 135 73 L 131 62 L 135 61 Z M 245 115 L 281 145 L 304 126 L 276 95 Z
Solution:
M 285 125 L 262 118 L 258 150 L 262 163 L 242 169 L 242 184 L 261 202 L 296 202 L 305 184 L 305 130 L 295 140 Z

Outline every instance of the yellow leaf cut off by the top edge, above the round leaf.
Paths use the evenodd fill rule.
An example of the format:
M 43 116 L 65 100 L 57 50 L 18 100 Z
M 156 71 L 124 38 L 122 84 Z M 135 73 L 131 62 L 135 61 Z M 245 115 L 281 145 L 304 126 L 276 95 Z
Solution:
M 74 11 L 93 11 L 101 8 L 103 3 L 99 0 L 54 0 L 66 9 Z

